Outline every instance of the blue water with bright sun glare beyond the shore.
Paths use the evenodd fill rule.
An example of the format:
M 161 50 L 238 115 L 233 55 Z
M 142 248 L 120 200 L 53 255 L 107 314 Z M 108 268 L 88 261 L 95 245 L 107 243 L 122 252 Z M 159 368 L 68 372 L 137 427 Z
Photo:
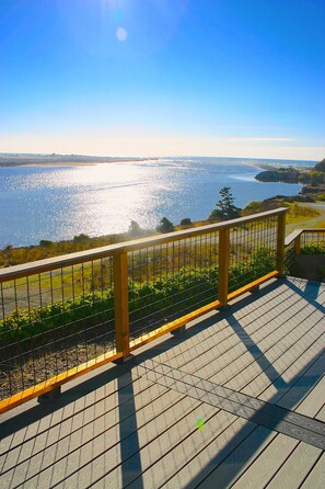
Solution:
M 81 167 L 0 168 L 0 248 L 37 244 L 40 239 L 72 239 L 81 232 L 92 237 L 123 232 L 131 219 L 143 228 L 154 228 L 164 216 L 174 224 L 184 217 L 204 219 L 223 186 L 231 187 L 239 207 L 299 192 L 298 184 L 257 182 L 254 177 L 260 171 L 260 162 L 169 158 Z

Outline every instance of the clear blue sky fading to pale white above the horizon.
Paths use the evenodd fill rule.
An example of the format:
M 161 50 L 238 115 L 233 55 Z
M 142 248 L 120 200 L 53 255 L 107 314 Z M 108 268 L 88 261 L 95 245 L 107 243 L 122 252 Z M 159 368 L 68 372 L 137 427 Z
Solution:
M 325 157 L 325 0 L 0 0 L 0 152 Z

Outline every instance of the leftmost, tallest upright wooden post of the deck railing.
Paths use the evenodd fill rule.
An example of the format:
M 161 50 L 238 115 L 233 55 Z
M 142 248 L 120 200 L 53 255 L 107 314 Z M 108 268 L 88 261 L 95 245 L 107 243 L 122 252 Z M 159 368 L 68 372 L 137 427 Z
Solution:
M 116 351 L 126 359 L 130 355 L 128 259 L 126 252 L 113 257 Z

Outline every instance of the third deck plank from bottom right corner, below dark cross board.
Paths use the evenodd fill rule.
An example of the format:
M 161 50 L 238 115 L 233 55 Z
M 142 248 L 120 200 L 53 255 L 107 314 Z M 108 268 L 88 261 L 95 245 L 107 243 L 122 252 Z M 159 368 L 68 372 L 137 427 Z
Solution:
M 232 488 L 260 489 L 265 487 L 281 468 L 282 464 L 298 444 L 299 442 L 297 440 L 278 434 Z

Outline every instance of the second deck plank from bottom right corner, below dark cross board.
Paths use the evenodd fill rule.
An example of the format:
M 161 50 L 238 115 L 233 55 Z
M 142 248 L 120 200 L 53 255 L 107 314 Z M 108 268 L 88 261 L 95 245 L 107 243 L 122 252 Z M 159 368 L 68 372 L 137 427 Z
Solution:
M 300 443 L 266 487 L 268 489 L 278 489 L 279 487 L 295 489 L 300 487 L 321 453 L 322 451 L 315 448 L 315 446 Z

